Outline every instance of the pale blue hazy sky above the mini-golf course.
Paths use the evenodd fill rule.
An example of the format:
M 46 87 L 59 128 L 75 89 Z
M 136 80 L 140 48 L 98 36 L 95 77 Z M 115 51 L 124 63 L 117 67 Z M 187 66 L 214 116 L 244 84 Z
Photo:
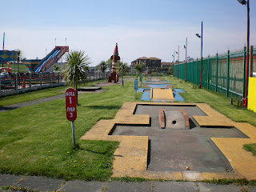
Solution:
M 0 38 L 5 50 L 44 58 L 56 46 L 83 50 L 90 66 L 118 52 L 122 62 L 156 57 L 162 62 L 242 50 L 246 6 L 237 0 L 12 0 L 1 1 Z M 56 38 L 56 41 L 55 41 Z M 250 0 L 250 45 L 256 46 L 256 1 Z M 179 46 L 179 49 L 178 49 Z M 2 50 L 2 47 L 0 47 Z

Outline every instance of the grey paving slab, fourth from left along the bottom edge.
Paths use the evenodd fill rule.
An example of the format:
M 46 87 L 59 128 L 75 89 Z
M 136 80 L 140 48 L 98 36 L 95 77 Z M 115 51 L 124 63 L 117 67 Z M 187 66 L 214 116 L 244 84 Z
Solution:
M 150 192 L 151 182 L 109 182 L 107 192 Z M 160 191 L 160 190 L 159 190 Z

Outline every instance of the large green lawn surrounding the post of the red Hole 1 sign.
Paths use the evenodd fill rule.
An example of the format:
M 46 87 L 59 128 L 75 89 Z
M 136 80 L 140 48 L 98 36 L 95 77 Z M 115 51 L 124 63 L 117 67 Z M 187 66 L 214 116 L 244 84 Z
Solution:
M 112 174 L 118 142 L 78 138 L 100 119 L 114 118 L 123 102 L 138 101 L 133 88 L 130 79 L 125 86 L 104 87 L 106 91 L 101 94 L 78 95 L 80 106 L 74 122 L 78 150 L 72 149 L 71 123 L 66 120 L 64 98 L 2 112 L 0 172 L 106 181 Z

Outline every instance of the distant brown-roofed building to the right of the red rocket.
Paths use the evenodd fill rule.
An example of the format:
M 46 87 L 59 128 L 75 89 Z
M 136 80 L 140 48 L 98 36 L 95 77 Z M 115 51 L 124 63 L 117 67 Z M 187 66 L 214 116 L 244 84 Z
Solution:
M 146 64 L 146 69 L 148 69 L 148 70 L 153 70 L 156 67 L 158 67 L 158 68 L 161 67 L 161 59 L 160 58 L 146 58 L 146 57 L 142 57 L 142 58 L 137 58 L 136 60 L 131 62 L 131 64 L 130 64 L 131 72 L 135 71 L 134 70 L 134 66 L 136 66 L 139 63 Z

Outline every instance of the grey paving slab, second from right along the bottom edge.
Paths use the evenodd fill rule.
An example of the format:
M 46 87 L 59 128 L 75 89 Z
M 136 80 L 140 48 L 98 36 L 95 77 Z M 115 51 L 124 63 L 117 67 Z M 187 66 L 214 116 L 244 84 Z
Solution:
M 222 192 L 241 192 L 241 186 L 215 185 L 212 183 L 198 182 L 198 191 L 222 191 Z

